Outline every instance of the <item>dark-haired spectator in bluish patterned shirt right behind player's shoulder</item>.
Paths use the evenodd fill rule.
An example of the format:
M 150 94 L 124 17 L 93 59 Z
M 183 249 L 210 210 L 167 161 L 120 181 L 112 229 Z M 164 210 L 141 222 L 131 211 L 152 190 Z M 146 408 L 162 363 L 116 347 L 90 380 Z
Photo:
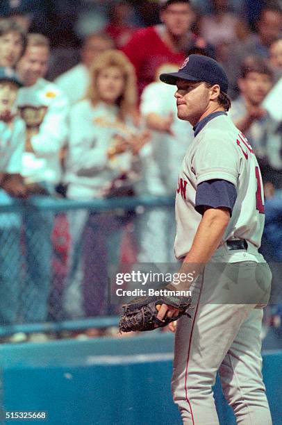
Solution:
M 273 85 L 273 72 L 267 60 L 258 56 L 247 57 L 241 65 L 238 86 L 240 97 L 232 102 L 229 115 L 251 143 L 263 178 L 276 174 L 281 181 L 281 135 L 279 123 L 263 108 L 263 100 Z

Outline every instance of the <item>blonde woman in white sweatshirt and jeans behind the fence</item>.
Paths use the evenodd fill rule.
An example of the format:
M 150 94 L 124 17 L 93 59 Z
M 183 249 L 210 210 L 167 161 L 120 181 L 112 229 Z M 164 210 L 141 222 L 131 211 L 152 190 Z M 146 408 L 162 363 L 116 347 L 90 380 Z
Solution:
M 90 86 L 85 99 L 73 106 L 69 116 L 69 149 L 65 182 L 70 199 L 103 198 L 115 194 L 115 182 L 133 188 L 135 192 L 163 194 L 157 167 L 151 157 L 147 131 L 138 128 L 135 72 L 124 53 L 110 50 L 94 60 L 90 70 Z M 119 176 L 122 178 L 119 180 Z M 149 177 L 149 180 L 148 180 Z M 108 245 L 115 246 L 117 260 L 120 221 L 115 215 L 93 215 L 78 210 L 70 215 L 72 253 L 70 278 L 65 309 L 69 315 L 99 315 L 103 313 L 104 285 Z M 81 238 L 85 224 L 91 226 Z M 91 231 L 90 231 L 91 230 Z M 89 233 L 90 231 L 90 233 Z M 119 236 L 118 236 L 119 235 Z M 78 286 L 74 253 L 87 247 L 83 272 L 84 306 L 78 306 Z M 111 240 L 111 243 L 110 243 Z M 80 245 L 80 246 L 79 246 Z M 113 249 L 111 249 L 113 251 Z M 78 272 L 80 267 L 78 267 Z M 99 285 L 103 288 L 98 288 Z M 98 289 L 97 289 L 98 288 Z M 81 294 L 81 292 L 79 292 Z M 72 300 L 75 300 L 72 305 Z M 75 312 L 75 314 L 74 314 Z

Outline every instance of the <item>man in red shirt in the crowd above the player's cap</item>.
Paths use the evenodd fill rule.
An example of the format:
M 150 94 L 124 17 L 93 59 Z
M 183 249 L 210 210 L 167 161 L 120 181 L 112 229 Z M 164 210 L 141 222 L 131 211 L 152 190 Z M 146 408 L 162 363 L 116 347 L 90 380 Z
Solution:
M 135 66 L 139 94 L 147 84 L 156 81 L 160 67 L 179 67 L 190 49 L 207 47 L 202 38 L 190 31 L 194 17 L 189 0 L 160 0 L 162 24 L 133 33 L 122 51 Z

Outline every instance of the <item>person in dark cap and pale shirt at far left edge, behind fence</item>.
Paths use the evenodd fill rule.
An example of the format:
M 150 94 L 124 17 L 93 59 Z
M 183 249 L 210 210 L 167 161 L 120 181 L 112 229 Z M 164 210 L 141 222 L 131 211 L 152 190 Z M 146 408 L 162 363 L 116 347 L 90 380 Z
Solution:
M 12 198 L 24 198 L 22 154 L 25 125 L 17 116 L 15 99 L 21 83 L 8 67 L 0 67 L 0 208 Z M 15 213 L 0 213 L 0 325 L 15 324 L 19 313 L 21 220 Z

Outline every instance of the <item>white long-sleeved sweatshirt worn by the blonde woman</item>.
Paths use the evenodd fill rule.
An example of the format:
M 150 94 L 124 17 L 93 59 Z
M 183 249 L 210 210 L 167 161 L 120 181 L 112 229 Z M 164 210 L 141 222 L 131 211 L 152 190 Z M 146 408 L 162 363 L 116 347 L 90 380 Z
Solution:
M 131 120 L 117 122 L 118 109 L 98 103 L 92 106 L 83 100 L 74 105 L 69 114 L 69 149 L 64 181 L 67 196 L 72 199 L 102 197 L 103 188 L 120 174 L 134 172 L 135 188 L 139 192 L 162 194 L 163 185 L 146 144 L 138 156 L 126 151 L 109 160 L 108 148 L 114 135 L 128 138 L 138 131 Z M 131 173 L 131 175 L 133 175 Z M 142 179 L 142 182 L 140 181 Z

